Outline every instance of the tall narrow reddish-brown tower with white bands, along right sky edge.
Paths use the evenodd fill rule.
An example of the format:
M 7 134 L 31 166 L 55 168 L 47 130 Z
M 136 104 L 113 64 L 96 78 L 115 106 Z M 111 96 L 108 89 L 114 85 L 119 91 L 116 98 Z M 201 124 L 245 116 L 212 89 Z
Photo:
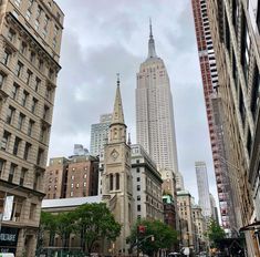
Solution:
M 230 234 L 231 230 L 236 234 L 233 193 L 226 162 L 228 156 L 225 147 L 222 99 L 218 94 L 218 71 L 209 28 L 207 1 L 193 0 L 191 2 L 221 223 L 226 233 Z

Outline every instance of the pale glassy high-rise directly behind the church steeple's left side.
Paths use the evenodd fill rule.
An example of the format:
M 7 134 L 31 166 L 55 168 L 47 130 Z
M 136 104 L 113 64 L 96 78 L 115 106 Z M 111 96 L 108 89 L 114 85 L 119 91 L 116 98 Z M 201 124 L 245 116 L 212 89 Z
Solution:
M 100 123 L 91 125 L 91 154 L 100 155 L 104 147 L 104 143 L 108 136 L 112 114 L 103 114 L 100 117 Z

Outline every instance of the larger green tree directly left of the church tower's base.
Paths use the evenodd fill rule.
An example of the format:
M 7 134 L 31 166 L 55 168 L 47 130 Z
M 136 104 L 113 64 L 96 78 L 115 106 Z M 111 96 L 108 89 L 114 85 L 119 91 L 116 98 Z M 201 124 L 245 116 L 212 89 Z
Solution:
M 104 203 L 84 204 L 75 209 L 76 227 L 81 232 L 83 250 L 91 253 L 100 239 L 115 240 L 121 233 L 121 225 Z

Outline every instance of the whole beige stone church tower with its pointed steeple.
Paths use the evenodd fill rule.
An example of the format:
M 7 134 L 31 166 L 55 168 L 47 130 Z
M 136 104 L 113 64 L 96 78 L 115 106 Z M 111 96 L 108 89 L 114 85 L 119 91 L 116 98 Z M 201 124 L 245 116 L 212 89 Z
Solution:
M 122 225 L 121 235 L 113 244 L 113 254 L 128 254 L 126 237 L 133 225 L 133 177 L 131 174 L 131 146 L 126 143 L 126 125 L 122 106 L 119 78 L 114 103 L 108 142 L 104 146 L 104 172 L 102 174 L 103 201 Z

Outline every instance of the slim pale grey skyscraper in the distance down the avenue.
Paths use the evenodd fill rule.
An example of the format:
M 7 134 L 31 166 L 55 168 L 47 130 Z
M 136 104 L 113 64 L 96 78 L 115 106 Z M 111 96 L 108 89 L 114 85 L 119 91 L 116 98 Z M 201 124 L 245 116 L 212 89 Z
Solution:
M 202 208 L 202 215 L 206 218 L 211 217 L 211 205 L 209 197 L 209 186 L 208 186 L 208 174 L 205 162 L 196 162 L 196 177 L 197 177 L 197 186 L 198 186 L 198 195 L 199 195 L 199 206 Z

